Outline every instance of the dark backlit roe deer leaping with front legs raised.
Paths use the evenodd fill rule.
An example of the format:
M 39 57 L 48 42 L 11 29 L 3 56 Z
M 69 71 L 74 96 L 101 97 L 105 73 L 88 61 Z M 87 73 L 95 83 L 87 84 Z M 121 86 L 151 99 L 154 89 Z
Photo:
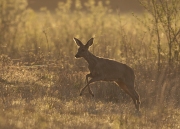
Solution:
M 88 87 L 89 93 L 94 96 L 89 86 L 92 82 L 114 81 L 132 98 L 137 111 L 139 111 L 140 98 L 134 88 L 135 75 L 132 68 L 114 60 L 97 57 L 89 52 L 88 48 L 93 44 L 93 38 L 86 45 L 77 38 L 74 38 L 74 41 L 79 46 L 75 57 L 83 57 L 88 62 L 90 70 L 90 73 L 86 75 L 87 84 L 81 89 L 80 95 Z M 90 81 L 88 81 L 89 77 Z

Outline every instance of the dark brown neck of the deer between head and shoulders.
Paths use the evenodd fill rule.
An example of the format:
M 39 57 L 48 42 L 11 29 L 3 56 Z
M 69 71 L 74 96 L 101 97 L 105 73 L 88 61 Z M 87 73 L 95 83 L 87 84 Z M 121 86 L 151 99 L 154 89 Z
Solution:
M 98 57 L 93 55 L 91 52 L 88 52 L 84 59 L 88 62 L 89 66 L 95 66 L 97 64 Z

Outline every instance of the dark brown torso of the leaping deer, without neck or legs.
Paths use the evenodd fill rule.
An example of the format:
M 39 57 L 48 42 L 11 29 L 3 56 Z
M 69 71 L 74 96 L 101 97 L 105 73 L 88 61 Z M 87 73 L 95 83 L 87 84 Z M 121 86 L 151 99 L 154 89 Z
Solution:
M 129 78 L 134 78 L 133 70 L 125 64 L 95 56 L 93 58 L 95 58 L 93 64 L 88 66 L 92 78 L 100 76 L 102 81 L 116 81 L 118 79 L 125 81 L 125 77 L 128 75 L 131 75 Z

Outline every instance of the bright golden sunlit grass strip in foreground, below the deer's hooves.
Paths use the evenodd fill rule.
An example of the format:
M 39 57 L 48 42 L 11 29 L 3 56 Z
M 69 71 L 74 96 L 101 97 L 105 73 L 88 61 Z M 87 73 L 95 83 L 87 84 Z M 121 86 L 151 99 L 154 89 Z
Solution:
M 77 97 L 61 101 L 44 97 L 26 103 L 22 99 L 1 111 L 1 128 L 179 128 L 179 109 L 142 108 L 141 115 L 131 104 L 101 102 Z

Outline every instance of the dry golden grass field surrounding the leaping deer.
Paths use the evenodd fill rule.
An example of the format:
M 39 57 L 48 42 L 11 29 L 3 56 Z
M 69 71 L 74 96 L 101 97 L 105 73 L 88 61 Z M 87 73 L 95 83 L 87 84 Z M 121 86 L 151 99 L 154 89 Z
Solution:
M 26 1 L 0 0 L 0 128 L 180 128 L 179 49 L 172 49 L 169 64 L 162 29 L 158 65 L 152 16 L 112 12 L 93 1 L 86 3 L 86 11 L 78 0 L 75 10 L 70 5 L 67 1 L 55 12 L 34 12 Z M 84 59 L 75 59 L 73 37 L 84 43 L 95 37 L 93 54 L 134 69 L 140 114 L 112 82 L 91 84 L 94 98 L 88 90 L 79 96 L 89 70 Z

